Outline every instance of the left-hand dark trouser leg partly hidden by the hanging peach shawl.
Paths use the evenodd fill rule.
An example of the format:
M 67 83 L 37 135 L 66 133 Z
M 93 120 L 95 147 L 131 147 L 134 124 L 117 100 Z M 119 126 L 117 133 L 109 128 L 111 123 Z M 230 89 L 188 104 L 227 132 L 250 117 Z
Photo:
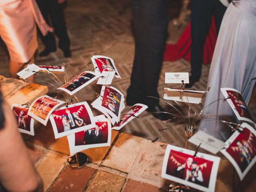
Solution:
M 44 17 L 44 20 L 49 23 L 48 20 L 48 0 L 36 0 L 36 3 L 38 4 L 38 7 L 42 13 L 42 16 Z M 56 50 L 56 42 L 54 38 L 54 33 L 49 32 L 46 36 L 43 36 L 40 30 L 38 29 L 38 34 L 40 35 L 40 38 L 42 39 L 42 42 L 45 45 L 45 48 L 48 50 Z

